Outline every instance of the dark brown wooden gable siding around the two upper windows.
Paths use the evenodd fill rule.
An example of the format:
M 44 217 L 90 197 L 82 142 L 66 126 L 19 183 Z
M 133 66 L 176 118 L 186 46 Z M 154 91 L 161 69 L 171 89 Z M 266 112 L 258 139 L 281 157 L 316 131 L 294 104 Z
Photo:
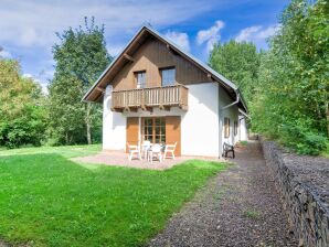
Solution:
M 176 67 L 176 80 L 179 84 L 208 82 L 206 73 L 198 68 L 184 57 L 176 54 L 161 41 L 149 39 L 132 55 L 135 62 L 126 64 L 114 77 L 115 90 L 136 88 L 135 72 L 146 71 L 147 87 L 161 86 L 159 68 Z

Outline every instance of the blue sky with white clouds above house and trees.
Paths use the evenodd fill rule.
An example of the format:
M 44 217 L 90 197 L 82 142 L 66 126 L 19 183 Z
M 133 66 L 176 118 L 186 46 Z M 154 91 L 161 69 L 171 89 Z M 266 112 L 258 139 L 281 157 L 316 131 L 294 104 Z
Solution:
M 22 74 L 44 92 L 54 74 L 52 46 L 56 32 L 95 17 L 105 25 L 106 47 L 116 56 L 134 34 L 150 23 L 183 50 L 206 62 L 215 42 L 254 42 L 278 29 L 288 0 L 0 0 L 0 56 L 18 58 Z

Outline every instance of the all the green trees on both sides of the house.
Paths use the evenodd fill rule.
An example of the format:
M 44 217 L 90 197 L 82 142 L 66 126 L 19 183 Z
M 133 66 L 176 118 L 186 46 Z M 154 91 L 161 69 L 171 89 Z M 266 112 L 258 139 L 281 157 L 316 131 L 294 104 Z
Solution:
M 328 153 L 329 3 L 293 0 L 279 14 L 268 49 L 217 42 L 209 65 L 235 83 L 252 132 L 300 154 Z M 0 147 L 102 141 L 102 105 L 82 97 L 113 60 L 94 18 L 57 33 L 47 94 L 22 76 L 20 62 L 0 57 Z

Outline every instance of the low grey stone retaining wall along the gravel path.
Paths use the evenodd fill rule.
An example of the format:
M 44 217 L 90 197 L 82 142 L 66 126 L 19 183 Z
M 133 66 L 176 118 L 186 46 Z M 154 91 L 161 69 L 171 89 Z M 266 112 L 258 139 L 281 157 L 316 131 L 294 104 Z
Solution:
M 299 246 L 329 246 L 329 160 L 296 155 L 263 141 L 284 208 Z

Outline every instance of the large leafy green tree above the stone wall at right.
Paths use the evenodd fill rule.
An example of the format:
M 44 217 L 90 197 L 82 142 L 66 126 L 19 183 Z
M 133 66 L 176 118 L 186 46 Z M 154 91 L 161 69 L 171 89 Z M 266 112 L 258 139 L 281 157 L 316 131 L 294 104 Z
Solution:
M 253 126 L 300 153 L 318 154 L 329 137 L 329 3 L 294 0 L 262 57 Z

